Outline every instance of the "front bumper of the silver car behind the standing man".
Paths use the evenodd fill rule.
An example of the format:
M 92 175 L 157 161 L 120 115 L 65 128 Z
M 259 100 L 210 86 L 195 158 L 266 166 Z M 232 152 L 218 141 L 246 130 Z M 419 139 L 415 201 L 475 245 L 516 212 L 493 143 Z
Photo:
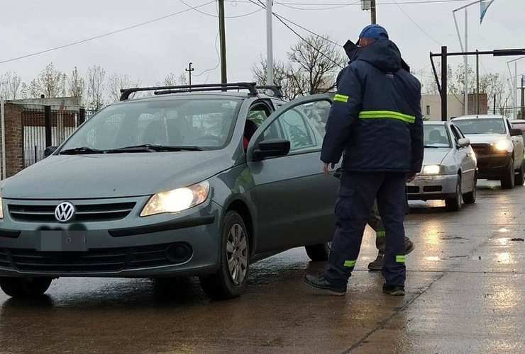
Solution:
M 416 175 L 407 183 L 409 200 L 444 200 L 455 198 L 458 175 Z

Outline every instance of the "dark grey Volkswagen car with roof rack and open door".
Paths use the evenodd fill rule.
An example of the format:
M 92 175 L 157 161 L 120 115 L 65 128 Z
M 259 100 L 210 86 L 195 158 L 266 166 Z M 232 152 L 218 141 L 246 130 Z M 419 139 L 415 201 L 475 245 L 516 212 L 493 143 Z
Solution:
M 1 289 L 33 297 L 58 277 L 197 275 L 222 299 L 241 295 L 258 259 L 306 246 L 326 260 L 338 180 L 319 156 L 332 98 L 284 104 L 260 89 L 129 89 L 1 181 Z

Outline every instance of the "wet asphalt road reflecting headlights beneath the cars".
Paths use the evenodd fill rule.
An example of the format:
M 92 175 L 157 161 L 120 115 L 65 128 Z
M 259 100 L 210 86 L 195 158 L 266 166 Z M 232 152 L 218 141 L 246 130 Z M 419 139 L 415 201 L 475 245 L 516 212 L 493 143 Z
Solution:
M 61 278 L 42 299 L 0 295 L 0 353 L 525 353 L 525 187 L 480 181 L 459 213 L 411 202 L 407 295 L 383 295 L 367 228 L 345 297 L 302 284 L 294 249 L 255 263 L 245 295 L 199 282 Z

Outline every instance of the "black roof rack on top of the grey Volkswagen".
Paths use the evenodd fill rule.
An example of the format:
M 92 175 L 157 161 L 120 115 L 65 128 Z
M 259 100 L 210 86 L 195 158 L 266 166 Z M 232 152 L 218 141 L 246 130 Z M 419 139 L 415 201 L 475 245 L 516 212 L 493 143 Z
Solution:
M 138 91 L 157 91 L 155 94 L 189 92 L 189 91 L 227 91 L 227 90 L 248 90 L 251 95 L 257 95 L 259 92 L 255 88 L 255 82 L 236 82 L 231 84 L 201 84 L 201 85 L 178 85 L 178 86 L 152 86 L 152 87 L 135 87 L 133 89 L 121 89 L 121 101 L 126 101 L 131 93 Z M 163 90 L 163 91 L 158 91 Z

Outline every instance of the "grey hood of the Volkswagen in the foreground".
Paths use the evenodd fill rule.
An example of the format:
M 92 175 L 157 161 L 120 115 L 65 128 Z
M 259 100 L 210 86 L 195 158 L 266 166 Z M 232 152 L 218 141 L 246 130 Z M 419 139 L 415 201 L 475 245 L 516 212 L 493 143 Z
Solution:
M 233 166 L 213 152 L 52 155 L 3 181 L 2 198 L 118 198 L 192 185 Z

